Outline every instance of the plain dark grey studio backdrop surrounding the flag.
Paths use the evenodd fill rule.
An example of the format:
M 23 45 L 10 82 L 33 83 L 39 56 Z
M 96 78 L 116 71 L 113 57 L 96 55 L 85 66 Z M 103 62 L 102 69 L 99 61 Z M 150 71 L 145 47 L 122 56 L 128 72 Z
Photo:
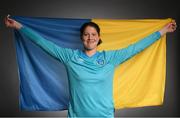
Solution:
M 115 116 L 180 116 L 179 20 L 175 0 L 1 0 L 0 1 L 0 116 L 66 116 L 67 111 L 21 112 L 19 80 L 12 30 L 5 27 L 7 14 L 57 18 L 161 19 L 174 18 L 178 29 L 167 35 L 167 73 L 164 104 L 116 110 Z

